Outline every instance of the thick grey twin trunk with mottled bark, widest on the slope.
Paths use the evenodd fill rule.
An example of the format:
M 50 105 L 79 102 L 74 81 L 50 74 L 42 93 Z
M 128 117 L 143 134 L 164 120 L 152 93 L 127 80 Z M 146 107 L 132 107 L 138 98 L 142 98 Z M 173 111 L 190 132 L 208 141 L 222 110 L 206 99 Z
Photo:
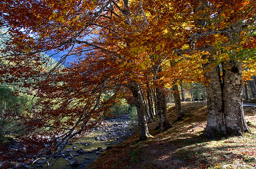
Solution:
M 229 60 L 223 65 L 222 84 L 219 65 L 211 68 L 214 58 L 208 57 L 208 60 L 209 63 L 203 64 L 208 109 L 204 135 L 206 138 L 242 135 L 249 131 L 243 111 L 242 63 Z

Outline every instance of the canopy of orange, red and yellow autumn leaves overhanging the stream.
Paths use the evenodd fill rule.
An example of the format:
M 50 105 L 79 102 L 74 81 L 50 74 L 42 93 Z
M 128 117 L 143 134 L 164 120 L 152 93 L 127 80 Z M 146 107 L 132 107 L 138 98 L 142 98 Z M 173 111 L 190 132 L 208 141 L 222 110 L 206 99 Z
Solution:
M 206 71 L 230 59 L 250 68 L 247 78 L 255 69 L 254 0 L 2 0 L 0 10 L 1 85 L 32 96 L 24 113 L 6 112 L 23 131 L 17 138 L 31 145 L 20 154 L 26 160 L 88 134 L 131 82 L 163 90 L 180 80 L 203 83 Z M 66 53 L 53 67 L 52 51 Z M 77 60 L 64 67 L 68 56 Z M 12 160 L 11 150 L 1 151 Z

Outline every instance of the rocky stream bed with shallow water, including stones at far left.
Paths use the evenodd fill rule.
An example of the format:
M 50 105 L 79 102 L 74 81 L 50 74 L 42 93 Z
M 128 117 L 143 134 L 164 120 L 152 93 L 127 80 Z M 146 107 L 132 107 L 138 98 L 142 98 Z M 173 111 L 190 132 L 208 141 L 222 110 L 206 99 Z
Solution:
M 80 141 L 68 142 L 67 145 L 61 144 L 59 149 L 63 146 L 63 151 L 60 154 L 53 155 L 53 161 L 55 164 L 50 169 L 73 169 L 71 161 L 76 158 L 76 162 L 80 163 L 76 165 L 76 169 L 84 169 L 88 165 L 92 164 L 102 152 L 106 150 L 108 146 L 113 146 L 118 143 L 122 143 L 127 138 L 134 134 L 134 129 L 130 127 L 130 117 L 128 114 L 108 117 L 102 121 L 99 127 L 96 127 L 92 133 L 85 136 Z M 20 145 L 18 140 L 14 140 L 10 143 L 9 149 L 14 151 L 26 150 L 25 147 Z M 73 159 L 73 160 L 72 160 Z M 50 162 L 50 165 L 52 164 Z M 44 158 L 31 159 L 25 163 L 14 163 L 12 168 L 31 168 L 31 167 L 45 167 Z M 0 168 L 3 166 L 0 163 Z

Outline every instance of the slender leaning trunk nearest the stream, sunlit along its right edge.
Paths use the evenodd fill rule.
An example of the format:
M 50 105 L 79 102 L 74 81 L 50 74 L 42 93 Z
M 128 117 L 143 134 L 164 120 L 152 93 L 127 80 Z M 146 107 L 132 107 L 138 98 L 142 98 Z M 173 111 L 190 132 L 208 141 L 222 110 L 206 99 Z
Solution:
M 145 108 L 142 94 L 140 92 L 140 86 L 139 86 L 139 83 L 136 81 L 130 82 L 128 86 L 132 91 L 132 95 L 134 97 L 135 104 L 137 106 L 138 126 L 139 126 L 139 133 L 140 133 L 139 140 L 145 140 L 150 136 L 150 134 L 148 133 L 148 126 L 146 121 L 146 108 Z

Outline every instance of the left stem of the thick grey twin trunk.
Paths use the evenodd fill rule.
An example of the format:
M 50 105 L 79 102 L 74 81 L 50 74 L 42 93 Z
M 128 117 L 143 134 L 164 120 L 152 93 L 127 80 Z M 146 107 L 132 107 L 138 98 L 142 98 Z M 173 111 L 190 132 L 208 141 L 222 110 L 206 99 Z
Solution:
M 204 55 L 203 59 L 206 58 Z M 206 138 L 216 138 L 215 134 L 226 133 L 226 124 L 222 107 L 222 87 L 219 65 L 211 68 L 212 57 L 208 57 L 209 63 L 203 64 L 205 88 L 207 94 L 207 125 L 204 130 Z

